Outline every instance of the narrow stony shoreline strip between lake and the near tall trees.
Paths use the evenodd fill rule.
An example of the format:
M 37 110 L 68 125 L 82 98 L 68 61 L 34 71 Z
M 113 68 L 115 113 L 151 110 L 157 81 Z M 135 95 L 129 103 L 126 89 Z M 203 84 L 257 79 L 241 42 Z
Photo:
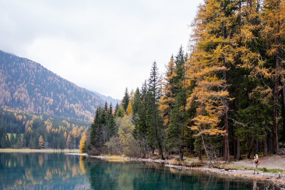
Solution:
M 74 154 L 76 155 L 76 154 Z M 83 155 L 83 154 L 77 154 L 77 155 Z M 84 154 L 83 156 L 91 157 L 91 158 L 98 158 L 98 159 L 109 159 L 112 158 L 112 156 L 90 156 L 87 154 Z M 170 160 L 161 160 L 161 159 L 151 159 L 151 158 L 120 158 L 118 160 L 130 160 L 130 161 L 143 161 L 143 162 L 158 162 L 158 163 L 164 163 L 166 167 L 172 167 L 176 169 L 181 170 L 200 170 L 204 172 L 212 172 L 217 174 L 224 174 L 224 175 L 233 175 L 233 176 L 242 176 L 242 177 L 250 177 L 250 178 L 257 178 L 257 179 L 263 179 L 263 180 L 269 180 L 273 181 L 275 184 L 281 187 L 285 187 L 285 175 L 280 175 L 281 179 L 277 179 L 277 175 L 274 173 L 266 173 L 263 171 L 259 171 L 259 174 L 253 174 L 253 170 L 224 170 L 224 169 L 218 169 L 214 167 L 188 167 L 188 166 L 180 166 L 180 165 L 173 165 L 170 164 Z M 282 188 L 283 189 L 283 188 Z

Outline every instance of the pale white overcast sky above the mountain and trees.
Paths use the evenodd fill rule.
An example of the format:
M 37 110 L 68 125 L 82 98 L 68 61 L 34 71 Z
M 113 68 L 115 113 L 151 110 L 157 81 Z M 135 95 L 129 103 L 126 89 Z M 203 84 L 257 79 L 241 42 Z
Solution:
M 0 0 L 0 49 L 91 91 L 122 99 L 187 51 L 202 0 Z

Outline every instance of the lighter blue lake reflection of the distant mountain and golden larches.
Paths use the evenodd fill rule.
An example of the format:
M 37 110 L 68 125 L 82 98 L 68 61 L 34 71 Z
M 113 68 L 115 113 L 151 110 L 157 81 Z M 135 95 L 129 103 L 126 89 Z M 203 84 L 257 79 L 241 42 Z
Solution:
M 90 189 L 84 157 L 0 153 L 0 189 Z

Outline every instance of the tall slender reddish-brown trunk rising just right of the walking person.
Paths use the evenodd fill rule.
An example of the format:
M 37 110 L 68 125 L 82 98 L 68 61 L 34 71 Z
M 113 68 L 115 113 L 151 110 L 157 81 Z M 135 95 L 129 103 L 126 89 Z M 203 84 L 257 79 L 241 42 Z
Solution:
M 280 33 L 280 21 L 278 20 L 277 34 Z M 280 52 L 280 35 L 277 36 L 276 49 L 276 68 L 275 68 L 275 85 L 274 85 L 274 104 L 273 104 L 273 154 L 278 152 L 278 136 L 277 136 L 277 102 L 278 102 L 278 80 L 279 80 L 279 52 Z

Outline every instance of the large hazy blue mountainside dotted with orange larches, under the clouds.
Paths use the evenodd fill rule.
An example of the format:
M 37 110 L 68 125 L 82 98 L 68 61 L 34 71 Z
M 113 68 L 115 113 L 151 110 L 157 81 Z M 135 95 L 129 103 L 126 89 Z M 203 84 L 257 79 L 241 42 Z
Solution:
M 104 103 L 39 63 L 0 50 L 0 107 L 90 121 Z

